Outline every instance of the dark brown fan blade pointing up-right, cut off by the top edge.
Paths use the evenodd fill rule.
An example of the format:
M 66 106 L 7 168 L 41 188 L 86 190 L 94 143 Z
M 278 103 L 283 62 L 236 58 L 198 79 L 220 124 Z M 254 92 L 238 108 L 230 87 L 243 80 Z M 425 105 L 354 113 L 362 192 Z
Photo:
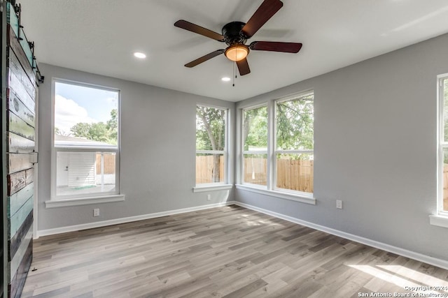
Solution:
M 283 6 L 280 0 L 265 0 L 244 25 L 241 32 L 250 38 Z

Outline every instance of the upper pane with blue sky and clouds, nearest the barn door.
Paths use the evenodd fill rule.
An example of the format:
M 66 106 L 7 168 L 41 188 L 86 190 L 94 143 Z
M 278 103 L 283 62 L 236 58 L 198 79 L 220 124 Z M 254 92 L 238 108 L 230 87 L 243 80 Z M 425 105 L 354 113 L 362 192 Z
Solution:
M 117 146 L 118 91 L 55 82 L 55 146 Z

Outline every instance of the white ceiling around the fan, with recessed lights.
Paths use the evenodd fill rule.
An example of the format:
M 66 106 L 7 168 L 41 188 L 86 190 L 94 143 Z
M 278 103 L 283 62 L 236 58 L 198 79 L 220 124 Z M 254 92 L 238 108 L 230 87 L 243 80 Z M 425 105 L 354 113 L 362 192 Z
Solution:
M 183 65 L 224 43 L 174 27 L 188 20 L 221 33 L 262 0 L 18 0 L 39 62 L 238 101 L 448 32 L 447 0 L 283 0 L 248 42 L 303 43 L 298 54 L 252 51 L 232 82 L 224 55 Z M 138 60 L 135 51 L 147 58 Z M 45 75 L 45 73 L 43 73 Z

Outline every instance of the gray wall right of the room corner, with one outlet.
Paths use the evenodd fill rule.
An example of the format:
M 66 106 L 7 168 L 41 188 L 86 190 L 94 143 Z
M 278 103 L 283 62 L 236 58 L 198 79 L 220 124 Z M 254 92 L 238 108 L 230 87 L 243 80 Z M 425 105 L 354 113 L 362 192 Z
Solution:
M 448 35 L 237 103 L 315 91 L 316 206 L 237 189 L 239 202 L 448 260 L 436 213 L 437 75 Z M 344 209 L 335 207 L 335 200 Z

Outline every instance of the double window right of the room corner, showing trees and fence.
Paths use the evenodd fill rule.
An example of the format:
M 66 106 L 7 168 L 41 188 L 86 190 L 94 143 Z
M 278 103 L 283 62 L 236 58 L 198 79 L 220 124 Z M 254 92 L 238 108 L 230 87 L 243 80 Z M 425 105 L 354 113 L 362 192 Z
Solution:
M 242 110 L 242 184 L 310 198 L 314 191 L 313 100 L 314 93 L 309 91 Z

